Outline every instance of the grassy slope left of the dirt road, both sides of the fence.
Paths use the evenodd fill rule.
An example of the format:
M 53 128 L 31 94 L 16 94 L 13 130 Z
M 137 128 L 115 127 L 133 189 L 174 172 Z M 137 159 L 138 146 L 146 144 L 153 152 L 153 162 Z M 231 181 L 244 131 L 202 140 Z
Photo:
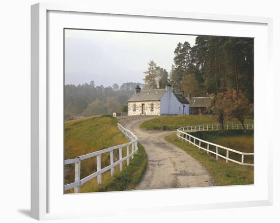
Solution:
M 111 116 L 97 116 L 65 122 L 65 159 L 106 149 L 129 142 L 117 128 L 117 119 Z M 126 154 L 126 148 L 123 148 Z M 118 151 L 114 151 L 115 161 L 119 159 Z M 123 171 L 115 168 L 115 176 L 110 172 L 102 174 L 102 185 L 97 186 L 96 178 L 80 187 L 80 192 L 114 191 L 133 188 L 141 179 L 146 168 L 147 157 L 142 145 L 138 146 L 138 153 L 131 159 L 130 165 L 123 162 Z M 101 155 L 101 166 L 110 164 L 109 153 Z M 137 168 L 135 168 L 137 165 Z M 96 172 L 96 157 L 81 161 L 81 179 Z M 74 182 L 74 164 L 65 165 L 65 184 Z M 73 192 L 73 189 L 66 193 Z

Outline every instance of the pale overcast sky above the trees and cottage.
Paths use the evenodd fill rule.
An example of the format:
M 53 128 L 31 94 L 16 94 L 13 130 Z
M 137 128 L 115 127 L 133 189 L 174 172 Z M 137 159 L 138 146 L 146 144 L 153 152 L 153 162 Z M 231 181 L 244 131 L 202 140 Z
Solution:
M 144 83 L 144 71 L 153 60 L 171 70 L 178 42 L 194 45 L 196 36 L 65 30 L 65 84 L 112 86 Z

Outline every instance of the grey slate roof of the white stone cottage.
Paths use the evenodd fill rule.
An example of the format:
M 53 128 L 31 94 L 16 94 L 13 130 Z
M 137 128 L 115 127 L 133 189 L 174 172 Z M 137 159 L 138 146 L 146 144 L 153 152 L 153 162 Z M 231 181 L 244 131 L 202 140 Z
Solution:
M 134 93 L 127 102 L 131 101 L 160 101 L 161 97 L 166 92 L 166 89 L 142 90 Z

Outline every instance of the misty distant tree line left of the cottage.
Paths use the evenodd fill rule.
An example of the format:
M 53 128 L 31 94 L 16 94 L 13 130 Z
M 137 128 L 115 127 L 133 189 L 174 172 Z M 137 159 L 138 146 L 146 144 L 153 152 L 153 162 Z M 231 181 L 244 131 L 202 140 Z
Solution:
M 83 85 L 64 86 L 64 116 L 94 116 L 127 110 L 127 99 L 143 83 L 126 82 L 119 86 L 95 86 L 94 81 Z

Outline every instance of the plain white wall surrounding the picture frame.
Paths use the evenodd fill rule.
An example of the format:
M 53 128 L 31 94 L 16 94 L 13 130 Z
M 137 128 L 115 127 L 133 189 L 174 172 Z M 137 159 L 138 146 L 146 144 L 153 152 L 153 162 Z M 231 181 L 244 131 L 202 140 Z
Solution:
M 45 1 L 70 3 L 75 1 Z M 94 3 L 96 2 L 96 3 Z M 116 1 L 117 2 L 117 1 Z M 110 5 L 113 8 L 122 6 L 131 8 L 146 8 L 157 10 L 174 10 L 190 12 L 211 12 L 218 14 L 233 15 L 253 15 L 253 16 L 271 16 L 274 19 L 273 26 L 273 58 L 276 65 L 279 61 L 280 39 L 280 15 L 279 7 L 276 1 L 138 1 L 129 3 L 129 1 L 110 1 L 110 4 L 104 2 L 104 5 Z M 274 3 L 275 2 L 275 3 Z M 0 148 L 1 157 L 1 180 L 0 180 L 0 219 L 4 222 L 29 222 L 35 221 L 29 218 L 30 214 L 30 5 L 36 1 L 10 1 L 1 4 L 1 34 L 0 34 Z M 100 1 L 79 1 L 79 3 L 100 4 Z M 279 77 L 277 77 L 277 67 L 274 66 L 274 102 L 279 97 L 277 91 Z M 265 73 L 263 75 L 266 75 Z M 279 119 L 276 118 L 276 105 L 271 109 L 274 113 L 275 126 L 279 125 Z M 276 130 L 274 137 L 277 138 Z M 270 207 L 254 207 L 239 209 L 222 209 L 207 211 L 187 211 L 174 213 L 144 214 L 137 216 L 115 216 L 100 217 L 98 219 L 79 219 L 79 222 L 276 222 L 279 221 L 277 211 L 280 210 L 279 204 L 279 151 L 274 146 L 274 205 Z M 93 201 L 94 202 L 94 201 Z M 148 201 L 147 201 L 148 202 Z M 279 212 L 279 211 L 278 211 Z M 108 213 L 109 214 L 109 213 Z M 67 220 L 76 222 L 77 219 Z M 58 220 L 55 222 L 66 222 Z

